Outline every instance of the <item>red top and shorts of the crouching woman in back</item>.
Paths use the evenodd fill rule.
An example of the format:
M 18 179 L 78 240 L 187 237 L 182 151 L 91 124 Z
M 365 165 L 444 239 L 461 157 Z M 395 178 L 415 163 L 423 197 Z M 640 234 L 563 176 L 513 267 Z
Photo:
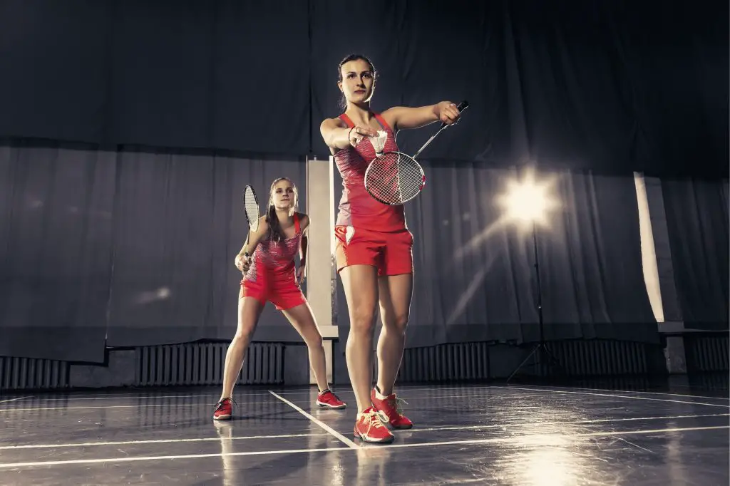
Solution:
M 294 257 L 301 244 L 299 214 L 294 213 L 294 236 L 274 242 L 264 239 L 253 252 L 253 263 L 241 280 L 239 298 L 253 297 L 261 304 L 271 302 L 278 310 L 291 309 L 306 302 L 296 285 Z

